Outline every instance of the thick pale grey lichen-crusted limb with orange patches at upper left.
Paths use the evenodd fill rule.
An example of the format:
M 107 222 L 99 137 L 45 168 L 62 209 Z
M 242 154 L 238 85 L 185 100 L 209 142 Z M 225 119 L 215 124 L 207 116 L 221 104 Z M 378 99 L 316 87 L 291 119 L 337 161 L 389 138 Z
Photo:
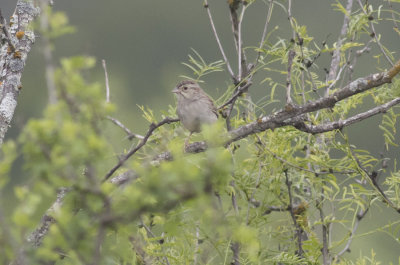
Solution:
M 17 7 L 10 19 L 9 40 L 15 44 L 15 51 L 8 51 L 7 45 L 0 49 L 0 146 L 10 127 L 17 106 L 21 86 L 21 76 L 28 53 L 35 41 L 35 34 L 29 24 L 39 14 L 32 1 L 18 0 Z M 3 19 L 4 22 L 4 19 Z M 5 25 L 3 27 L 3 31 Z M 20 32 L 18 36 L 16 33 Z

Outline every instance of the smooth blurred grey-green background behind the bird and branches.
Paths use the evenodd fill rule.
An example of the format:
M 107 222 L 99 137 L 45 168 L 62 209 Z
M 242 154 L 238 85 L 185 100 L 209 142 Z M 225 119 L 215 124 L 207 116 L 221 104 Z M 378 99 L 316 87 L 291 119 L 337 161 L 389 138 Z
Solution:
M 181 80 L 179 75 L 191 75 L 190 70 L 181 64 L 187 61 L 191 48 L 198 51 L 207 62 L 221 59 L 201 0 L 54 0 L 54 2 L 54 10 L 66 12 L 70 24 L 77 29 L 75 34 L 63 36 L 55 42 L 55 64 L 57 65 L 62 57 L 94 56 L 97 58 L 97 67 L 90 72 L 88 79 L 104 84 L 101 60 L 105 59 L 110 79 L 111 100 L 118 106 L 114 116 L 135 133 L 143 134 L 148 125 L 141 118 L 141 111 L 137 105 L 150 107 L 158 116 L 161 110 L 168 109 L 168 105 L 174 105 L 170 91 Z M 231 64 L 236 66 L 226 1 L 209 2 L 225 51 Z M 326 40 L 328 45 L 332 46 L 337 40 L 343 15 L 333 10 L 334 2 L 293 1 L 293 16 L 299 24 L 307 26 L 309 35 L 313 36 L 319 45 Z M 369 2 L 375 6 L 379 3 L 377 0 Z M 15 4 L 16 0 L 1 0 L 0 8 L 6 17 L 12 14 Z M 357 4 L 354 6 L 357 7 Z M 243 24 L 245 46 L 258 46 L 266 12 L 267 6 L 261 0 L 249 8 Z M 287 15 L 279 7 L 274 9 L 269 29 L 272 30 L 275 26 L 279 28 L 271 36 L 272 42 L 276 42 L 278 37 L 290 39 L 291 31 Z M 383 22 L 377 27 L 377 31 L 384 36 L 382 42 L 385 46 L 394 51 L 399 50 L 399 36 L 394 33 L 391 23 Z M 41 48 L 41 39 L 38 36 L 37 43 L 29 54 L 23 75 L 23 90 L 7 138 L 16 138 L 27 120 L 31 117 L 40 117 L 41 111 L 47 104 Z M 359 58 L 355 77 L 376 71 L 373 54 L 374 50 L 371 54 Z M 254 58 L 254 55 L 255 53 L 249 50 L 249 58 Z M 395 57 L 399 58 L 398 53 Z M 329 54 L 322 55 L 316 63 L 319 66 L 317 72 L 323 76 L 323 69 L 329 68 Z M 256 81 L 263 78 L 265 76 L 261 73 L 256 76 Z M 272 78 L 285 77 L 277 75 Z M 204 81 L 203 88 L 214 98 L 218 98 L 230 84 L 226 72 L 213 73 Z M 251 93 L 257 98 L 268 94 L 269 90 L 266 84 L 256 83 Z M 272 107 L 279 106 L 281 105 Z M 348 128 L 352 142 L 358 148 L 367 149 L 375 155 L 384 151 L 381 131 L 377 129 L 380 120 L 380 117 L 374 117 Z M 121 140 L 115 141 L 120 146 L 129 147 L 129 142 L 122 140 L 122 133 L 113 137 L 120 137 Z M 398 158 L 398 149 L 385 155 L 392 158 L 391 165 L 393 165 L 394 158 Z M 20 163 L 16 167 L 18 165 Z M 29 177 L 27 172 L 19 168 L 15 168 L 13 174 L 16 179 Z M 398 220 L 398 218 L 398 214 L 385 209 L 382 205 L 382 208 L 375 208 L 369 212 L 367 218 L 361 222 L 358 233 L 369 231 L 371 227 L 379 227 L 381 219 L 386 224 L 388 220 Z M 346 255 L 354 258 L 362 255 L 370 256 L 371 248 L 377 252 L 377 259 L 383 264 L 399 262 L 399 243 L 384 233 L 356 237 L 352 252 Z

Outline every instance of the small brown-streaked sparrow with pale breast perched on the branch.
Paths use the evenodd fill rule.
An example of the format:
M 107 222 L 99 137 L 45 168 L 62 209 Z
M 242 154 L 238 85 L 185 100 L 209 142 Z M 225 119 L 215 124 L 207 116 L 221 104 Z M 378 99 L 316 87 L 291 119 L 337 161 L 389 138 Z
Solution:
M 176 112 L 183 127 L 190 132 L 185 141 L 189 143 L 193 133 L 201 131 L 203 124 L 212 124 L 218 120 L 217 108 L 199 84 L 192 80 L 184 80 L 172 90 L 177 97 Z

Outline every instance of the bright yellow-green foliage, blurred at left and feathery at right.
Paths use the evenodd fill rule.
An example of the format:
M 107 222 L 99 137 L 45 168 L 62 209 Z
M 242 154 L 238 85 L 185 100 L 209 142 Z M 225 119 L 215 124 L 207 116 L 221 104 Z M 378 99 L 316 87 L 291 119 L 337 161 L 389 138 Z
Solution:
M 283 5 L 282 1 L 277 4 Z M 334 6 L 345 11 L 339 2 Z M 377 11 L 370 8 L 369 12 Z M 63 14 L 51 17 L 54 32 L 49 36 L 71 31 Z M 351 14 L 349 39 L 340 49 L 341 66 L 347 63 L 349 51 L 367 45 L 362 37 L 370 27 L 368 22 L 360 10 Z M 335 81 L 325 82 L 316 62 L 337 44 L 319 47 L 305 25 L 294 20 L 292 27 L 296 40 L 267 36 L 265 45 L 255 49 L 260 62 L 251 75 L 261 76 L 268 96 L 254 103 L 240 97 L 232 126 L 265 114 L 269 104 L 282 103 L 277 94 L 286 83 L 269 75 L 287 75 L 290 49 L 296 52 L 291 75 L 296 104 L 316 99 L 327 86 L 332 91 L 341 87 Z M 185 64 L 193 71 L 192 79 L 221 71 L 221 61 L 206 63 L 194 53 Z M 380 53 L 376 56 L 379 63 Z M 226 132 L 221 121 L 192 138 L 206 140 L 205 152 L 185 154 L 188 133 L 177 123 L 165 125 L 115 173 L 132 171 L 134 179 L 121 186 L 104 182 L 106 172 L 126 150 L 115 150 L 105 133 L 107 116 L 117 110 L 106 103 L 103 85 L 86 77 L 95 63 L 92 57 L 63 59 L 55 76 L 58 102 L 49 105 L 41 118 L 30 120 L 17 142 L 3 145 L 0 189 L 18 154 L 30 178 L 14 187 L 18 203 L 12 215 L 2 214 L 5 202 L 0 201 L 2 264 L 17 256 L 26 264 L 231 264 L 235 248 L 240 264 L 321 264 L 321 227 L 335 234 L 328 243 L 329 257 L 337 264 L 379 264 L 370 249 L 365 251 L 370 255 L 355 260 L 336 255 L 353 239 L 351 231 L 362 213 L 373 206 L 387 207 L 366 171 L 386 176 L 381 187 L 396 206 L 400 205 L 400 173 L 396 167 L 384 166 L 384 157 L 352 145 L 346 130 L 310 135 L 283 127 L 224 148 Z M 399 81 L 394 81 L 307 118 L 313 124 L 346 119 L 367 100 L 379 105 L 398 97 L 399 87 Z M 220 103 L 234 89 L 229 86 Z M 140 108 L 146 122 L 157 122 L 151 108 Z M 398 115 L 398 107 L 383 115 L 380 128 L 386 148 L 398 148 Z M 162 116 L 175 116 L 174 108 Z M 132 140 L 132 146 L 140 141 Z M 165 151 L 171 152 L 173 160 L 154 163 L 154 157 Z M 65 197 L 48 212 L 54 222 L 41 244 L 32 246 L 26 242 L 28 235 L 62 188 L 67 189 Z M 366 234 L 390 234 L 393 244 L 398 244 L 399 225 L 397 221 L 373 226 Z M 303 240 L 302 255 L 296 233 Z

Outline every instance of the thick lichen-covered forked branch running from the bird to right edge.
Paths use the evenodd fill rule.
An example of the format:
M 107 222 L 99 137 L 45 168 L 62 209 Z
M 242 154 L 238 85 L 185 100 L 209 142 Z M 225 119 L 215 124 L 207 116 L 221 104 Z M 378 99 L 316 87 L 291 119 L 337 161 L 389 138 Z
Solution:
M 230 131 L 228 133 L 228 140 L 225 141 L 224 145 L 228 146 L 229 144 L 236 142 L 240 139 L 246 138 L 249 135 L 263 132 L 268 129 L 275 129 L 284 126 L 295 126 L 297 129 L 309 133 L 322 133 L 326 131 L 332 131 L 335 129 L 343 128 L 345 126 L 364 120 L 378 113 L 384 113 L 389 108 L 393 107 L 396 104 L 399 104 L 400 99 L 396 98 L 386 104 L 375 107 L 369 111 L 360 113 L 343 121 L 325 123 L 322 125 L 306 125 L 303 122 L 304 120 L 303 114 L 314 112 L 321 109 L 332 108 L 337 102 L 341 100 L 349 98 L 355 94 L 365 92 L 369 89 L 379 87 L 383 84 L 390 83 L 391 80 L 399 72 L 400 72 L 400 61 L 398 61 L 396 65 L 387 72 L 371 74 L 369 76 L 359 78 L 349 83 L 344 88 L 337 90 L 335 93 L 329 96 L 317 99 L 316 101 L 309 102 L 302 106 L 294 105 L 291 110 L 279 110 L 270 115 L 261 117 L 254 122 L 248 123 L 246 125 L 243 125 L 237 129 Z M 235 95 L 237 96 L 238 93 L 239 92 L 237 92 Z M 231 99 L 229 101 L 231 101 Z M 229 101 L 223 104 L 219 108 L 222 108 L 227 104 L 229 104 Z M 189 145 L 187 149 L 188 153 L 197 153 L 197 152 L 204 152 L 207 148 L 205 143 L 198 142 Z M 166 158 L 166 159 L 160 159 L 160 161 L 172 159 L 172 156 L 169 152 L 165 152 L 163 154 L 160 154 L 159 156 Z M 319 172 L 319 173 L 323 174 L 325 172 Z

